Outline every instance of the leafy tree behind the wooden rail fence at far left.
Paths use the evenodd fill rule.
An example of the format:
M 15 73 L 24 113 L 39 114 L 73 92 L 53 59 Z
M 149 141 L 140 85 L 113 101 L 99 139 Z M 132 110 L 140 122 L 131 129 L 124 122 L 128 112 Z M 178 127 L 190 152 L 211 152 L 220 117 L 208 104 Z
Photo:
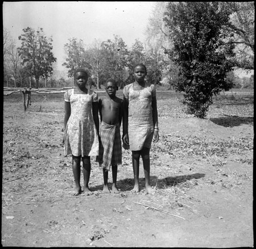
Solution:
M 31 75 L 35 77 L 36 88 L 39 87 L 39 78 L 52 70 L 52 63 L 56 58 L 52 53 L 52 38 L 44 36 L 43 28 L 38 31 L 27 27 L 23 29 L 23 34 L 19 36 L 22 45 L 18 48 L 23 65 L 31 69 Z

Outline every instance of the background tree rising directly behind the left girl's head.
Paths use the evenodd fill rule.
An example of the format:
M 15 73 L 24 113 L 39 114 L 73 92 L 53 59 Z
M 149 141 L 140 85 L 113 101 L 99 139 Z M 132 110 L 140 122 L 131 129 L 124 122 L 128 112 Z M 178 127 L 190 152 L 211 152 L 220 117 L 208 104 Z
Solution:
M 90 65 L 85 60 L 85 45 L 83 41 L 80 39 L 77 41 L 76 38 L 69 39 L 69 43 L 64 45 L 65 53 L 67 53 L 67 58 L 65 62 L 62 64 L 68 69 L 68 77 L 72 78 L 74 71 L 79 67 L 88 67 L 90 69 Z

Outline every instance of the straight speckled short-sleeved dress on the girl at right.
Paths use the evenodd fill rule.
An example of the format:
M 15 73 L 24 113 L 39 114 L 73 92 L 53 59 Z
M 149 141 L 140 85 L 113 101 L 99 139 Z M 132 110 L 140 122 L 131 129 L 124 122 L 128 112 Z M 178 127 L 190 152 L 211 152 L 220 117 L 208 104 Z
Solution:
M 131 83 L 123 88 L 123 96 L 129 100 L 128 136 L 130 150 L 150 148 L 154 134 L 152 97 L 156 96 L 155 86 L 146 85 L 142 90 L 133 90 Z

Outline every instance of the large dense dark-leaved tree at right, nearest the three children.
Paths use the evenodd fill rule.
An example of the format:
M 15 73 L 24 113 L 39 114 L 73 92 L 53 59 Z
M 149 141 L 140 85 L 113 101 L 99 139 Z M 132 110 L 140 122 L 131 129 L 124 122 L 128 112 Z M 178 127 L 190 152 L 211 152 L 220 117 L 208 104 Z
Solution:
M 164 22 L 174 41 L 168 56 L 179 66 L 177 91 L 184 91 L 181 100 L 187 113 L 206 116 L 212 96 L 232 85 L 226 81 L 232 63 L 233 44 L 220 40 L 221 29 L 229 22 L 232 10 L 220 2 L 170 2 Z

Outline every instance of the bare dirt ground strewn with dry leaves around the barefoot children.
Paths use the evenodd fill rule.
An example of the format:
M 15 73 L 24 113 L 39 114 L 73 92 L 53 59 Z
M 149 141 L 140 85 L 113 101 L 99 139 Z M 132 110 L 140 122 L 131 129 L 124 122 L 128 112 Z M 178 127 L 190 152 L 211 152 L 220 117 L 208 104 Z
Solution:
M 142 163 L 141 191 L 130 192 L 131 153 L 123 150 L 120 193 L 101 192 L 92 157 L 93 195 L 72 196 L 62 97 L 32 95 L 24 113 L 20 95 L 5 96 L 2 246 L 253 247 L 253 96 L 217 98 L 206 119 L 167 97 L 158 95 L 160 141 L 150 154 L 155 194 L 144 191 Z

